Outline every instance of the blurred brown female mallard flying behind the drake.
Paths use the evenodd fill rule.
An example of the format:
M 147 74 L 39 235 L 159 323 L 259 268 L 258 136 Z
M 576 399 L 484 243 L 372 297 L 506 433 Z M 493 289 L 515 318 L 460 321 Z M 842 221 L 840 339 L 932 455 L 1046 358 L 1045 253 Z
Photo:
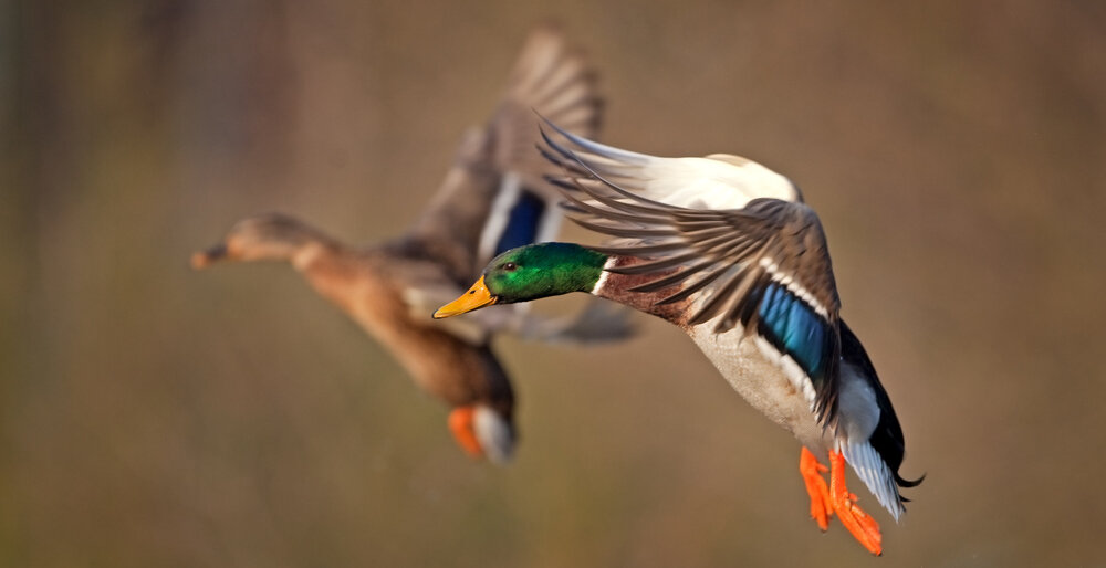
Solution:
M 267 214 L 239 221 L 222 243 L 196 253 L 192 264 L 290 262 L 388 347 L 419 387 L 453 409 L 449 428 L 466 451 L 503 462 L 517 438 L 514 393 L 489 346 L 492 333 L 618 338 L 627 333 L 625 320 L 592 314 L 583 323 L 557 325 L 508 309 L 476 325 L 444 326 L 426 314 L 463 291 L 495 254 L 555 234 L 557 192 L 543 179 L 555 167 L 533 151 L 533 109 L 594 134 L 602 112 L 594 83 L 592 67 L 562 34 L 539 28 L 491 120 L 463 140 L 437 196 L 405 235 L 353 249 L 295 219 Z

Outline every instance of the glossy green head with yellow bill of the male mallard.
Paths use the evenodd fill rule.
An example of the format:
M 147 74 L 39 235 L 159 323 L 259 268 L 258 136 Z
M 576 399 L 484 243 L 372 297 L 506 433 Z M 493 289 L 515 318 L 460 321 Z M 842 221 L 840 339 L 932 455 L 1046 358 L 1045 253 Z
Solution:
M 492 259 L 480 280 L 435 318 L 463 314 L 492 304 L 530 302 L 570 292 L 592 292 L 607 255 L 571 243 L 541 243 L 511 249 Z

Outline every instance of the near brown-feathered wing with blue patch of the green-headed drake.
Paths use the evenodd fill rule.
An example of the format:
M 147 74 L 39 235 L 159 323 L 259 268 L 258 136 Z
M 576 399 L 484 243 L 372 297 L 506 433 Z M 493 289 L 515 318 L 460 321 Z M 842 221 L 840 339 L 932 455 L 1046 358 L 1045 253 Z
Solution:
M 617 165 L 597 164 L 612 151 L 592 151 L 585 160 L 576 148 L 559 144 L 544 132 L 543 137 L 546 157 L 567 172 L 553 181 L 565 190 L 571 218 L 599 233 L 630 239 L 628 244 L 601 249 L 603 252 L 649 259 L 608 270 L 657 274 L 630 290 L 676 291 L 660 303 L 690 298 L 690 326 L 713 322 L 717 333 L 740 326 L 747 336 L 768 340 L 810 379 L 818 420 L 833 423 L 841 360 L 841 301 L 825 234 L 814 210 L 799 201 L 771 197 L 749 198 L 740 209 L 672 204 L 665 198 L 680 194 L 678 188 L 664 193 L 656 188 L 667 182 L 638 177 L 634 170 Z M 578 140 L 572 137 L 568 144 L 580 147 Z M 595 146 L 584 147 L 588 148 Z M 626 186 L 612 181 L 607 173 L 620 176 Z M 764 176 L 761 171 L 755 175 Z M 644 182 L 632 185 L 634 180 Z M 734 189 L 717 179 L 709 183 L 712 189 L 707 193 L 714 194 L 729 191 L 748 197 L 781 189 L 774 181 L 768 189 L 755 185 Z

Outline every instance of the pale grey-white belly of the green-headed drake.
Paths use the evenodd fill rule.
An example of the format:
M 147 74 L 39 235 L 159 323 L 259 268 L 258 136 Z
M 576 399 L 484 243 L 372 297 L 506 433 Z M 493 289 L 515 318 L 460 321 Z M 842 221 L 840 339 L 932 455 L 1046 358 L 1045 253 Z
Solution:
M 815 455 L 824 456 L 833 448 L 833 439 L 811 411 L 814 391 L 810 381 L 789 377 L 779 357 L 772 357 L 778 355 L 775 350 L 763 340 L 750 337 L 742 341 L 740 327 L 721 335 L 714 334 L 713 327 L 713 322 L 708 322 L 689 329 L 688 335 L 753 408 L 791 431 Z M 783 365 L 789 364 L 794 365 L 790 359 Z

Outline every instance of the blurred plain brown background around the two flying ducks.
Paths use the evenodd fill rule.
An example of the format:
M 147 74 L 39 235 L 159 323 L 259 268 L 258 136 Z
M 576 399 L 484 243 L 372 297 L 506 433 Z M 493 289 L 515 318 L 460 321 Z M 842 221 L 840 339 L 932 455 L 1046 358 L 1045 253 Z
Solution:
M 0 8 L 0 565 L 1103 561 L 1106 6 L 466 4 Z M 928 474 L 898 526 L 858 491 L 884 558 L 818 533 L 799 445 L 660 320 L 500 341 L 495 469 L 286 266 L 188 267 L 257 212 L 403 231 L 551 17 L 604 140 L 741 154 L 821 212 Z

